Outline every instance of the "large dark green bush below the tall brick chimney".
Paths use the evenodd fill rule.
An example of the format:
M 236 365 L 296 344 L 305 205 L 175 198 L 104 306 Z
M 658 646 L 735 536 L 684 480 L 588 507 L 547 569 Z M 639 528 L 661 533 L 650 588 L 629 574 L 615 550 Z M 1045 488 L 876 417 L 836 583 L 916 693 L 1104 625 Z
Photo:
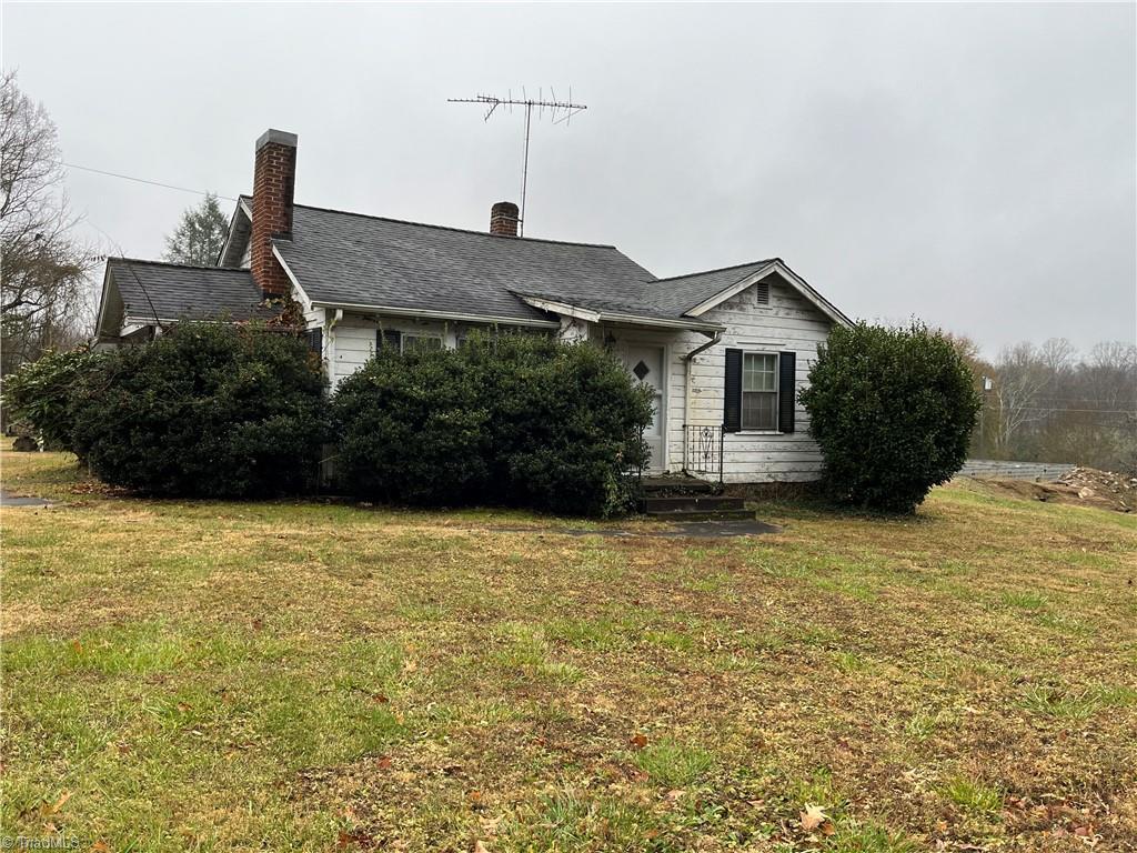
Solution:
M 100 363 L 74 404 L 73 446 L 100 480 L 155 495 L 296 492 L 327 437 L 324 387 L 296 336 L 180 323 Z

